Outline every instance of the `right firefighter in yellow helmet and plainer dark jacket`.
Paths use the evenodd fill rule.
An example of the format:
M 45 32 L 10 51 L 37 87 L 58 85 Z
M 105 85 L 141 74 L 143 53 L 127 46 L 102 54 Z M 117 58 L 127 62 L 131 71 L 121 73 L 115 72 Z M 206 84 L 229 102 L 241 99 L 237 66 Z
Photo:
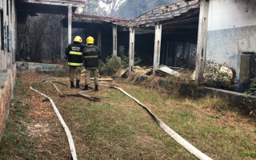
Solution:
M 90 71 L 94 73 L 94 85 L 95 91 L 98 91 L 98 59 L 101 57 L 98 46 L 94 46 L 94 38 L 88 37 L 86 39 L 87 46 L 83 50 L 83 58 L 85 59 L 86 68 L 86 87 L 84 90 L 88 90 L 90 83 Z

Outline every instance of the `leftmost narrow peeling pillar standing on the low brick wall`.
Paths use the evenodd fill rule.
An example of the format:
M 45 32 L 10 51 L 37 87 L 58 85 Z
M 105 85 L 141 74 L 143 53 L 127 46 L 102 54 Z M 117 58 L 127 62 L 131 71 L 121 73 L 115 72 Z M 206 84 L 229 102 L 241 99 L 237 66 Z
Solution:
M 2 53 L 2 70 L 7 69 L 7 51 L 8 51 L 8 37 L 7 37 L 7 27 L 8 27 L 8 17 L 7 17 L 7 0 L 2 1 L 3 9 L 3 53 Z

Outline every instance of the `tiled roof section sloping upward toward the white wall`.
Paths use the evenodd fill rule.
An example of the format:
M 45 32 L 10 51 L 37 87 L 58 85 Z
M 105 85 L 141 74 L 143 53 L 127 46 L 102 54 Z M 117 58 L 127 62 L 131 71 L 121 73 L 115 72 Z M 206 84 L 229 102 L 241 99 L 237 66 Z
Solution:
M 197 14 L 199 9 L 199 0 L 175 2 L 168 6 L 159 6 L 153 10 L 149 10 L 138 16 L 138 18 L 126 22 L 125 26 L 154 26 L 173 21 L 175 18 L 181 20 L 182 18 L 184 19 Z

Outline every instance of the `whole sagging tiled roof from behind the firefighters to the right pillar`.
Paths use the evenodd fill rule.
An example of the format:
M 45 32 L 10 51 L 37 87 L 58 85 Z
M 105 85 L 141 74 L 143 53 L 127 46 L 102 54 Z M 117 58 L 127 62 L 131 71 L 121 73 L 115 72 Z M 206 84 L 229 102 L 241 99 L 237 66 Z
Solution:
M 138 18 L 134 19 L 114 18 L 105 15 L 78 13 L 72 14 L 72 19 L 74 22 L 96 24 L 112 23 L 124 27 L 148 27 L 155 26 L 156 24 L 166 24 L 169 22 L 181 21 L 186 18 L 194 18 L 196 15 L 198 15 L 199 10 L 199 0 L 190 0 L 189 2 L 187 2 L 187 0 L 183 0 L 181 2 L 175 2 L 167 6 L 159 6 L 153 10 L 149 10 L 146 13 L 141 14 L 138 16 Z

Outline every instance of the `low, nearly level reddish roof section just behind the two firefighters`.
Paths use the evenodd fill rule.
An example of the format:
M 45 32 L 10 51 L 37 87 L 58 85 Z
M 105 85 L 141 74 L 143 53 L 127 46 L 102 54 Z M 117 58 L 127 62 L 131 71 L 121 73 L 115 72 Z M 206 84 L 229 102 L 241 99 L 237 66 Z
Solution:
M 72 19 L 74 22 L 94 22 L 94 23 L 102 23 L 102 22 L 111 22 L 113 24 L 122 26 L 126 22 L 129 22 L 131 19 L 125 18 L 115 18 L 106 15 L 94 15 L 94 14 L 72 14 Z

